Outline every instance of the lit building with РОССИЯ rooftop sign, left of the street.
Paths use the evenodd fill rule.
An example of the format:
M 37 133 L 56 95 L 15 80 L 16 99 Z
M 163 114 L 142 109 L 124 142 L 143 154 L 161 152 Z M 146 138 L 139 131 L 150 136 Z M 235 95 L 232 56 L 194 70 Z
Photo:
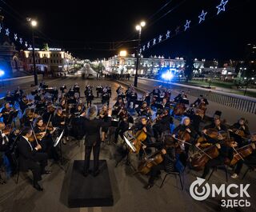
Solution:
M 67 51 L 59 48 L 49 48 L 49 50 L 39 50 L 35 48 L 36 70 L 44 73 L 67 72 L 74 69 L 76 59 Z M 33 51 L 32 49 L 21 50 L 24 70 L 33 71 Z

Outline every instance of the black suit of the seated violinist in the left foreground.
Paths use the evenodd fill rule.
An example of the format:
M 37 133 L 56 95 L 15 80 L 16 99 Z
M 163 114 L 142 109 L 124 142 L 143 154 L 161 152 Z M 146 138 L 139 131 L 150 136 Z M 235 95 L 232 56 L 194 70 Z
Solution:
M 32 143 L 31 143 L 32 146 Z M 31 170 L 33 173 L 34 182 L 38 182 L 42 179 L 41 174 L 45 170 L 47 165 L 47 154 L 39 153 L 21 137 L 18 142 L 18 159 L 20 170 Z

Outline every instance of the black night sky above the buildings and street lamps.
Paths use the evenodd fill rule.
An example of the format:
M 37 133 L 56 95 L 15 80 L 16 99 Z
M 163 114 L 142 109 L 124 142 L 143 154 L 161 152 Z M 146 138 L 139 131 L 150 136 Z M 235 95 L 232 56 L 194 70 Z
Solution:
M 78 58 L 108 58 L 118 54 L 120 49 L 134 53 L 137 42 L 118 41 L 137 39 L 134 26 L 142 19 L 147 23 L 142 30 L 142 44 L 159 34 L 165 37 L 166 30 L 174 34 L 177 26 L 181 32 L 147 50 L 145 56 L 157 54 L 174 58 L 191 54 L 194 58 L 206 59 L 243 58 L 246 44 L 256 43 L 253 0 L 230 0 L 226 4 L 226 12 L 216 16 L 218 10 L 215 7 L 220 2 L 0 0 L 0 6 L 5 15 L 4 24 L 10 30 L 29 39 L 31 35 L 26 17 L 37 18 L 38 46 L 42 47 L 42 43 L 47 42 L 51 47 L 69 50 Z M 166 14 L 169 10 L 171 12 Z M 202 10 L 208 12 L 206 22 L 198 25 L 198 15 Z M 182 32 L 186 19 L 191 20 L 191 28 Z

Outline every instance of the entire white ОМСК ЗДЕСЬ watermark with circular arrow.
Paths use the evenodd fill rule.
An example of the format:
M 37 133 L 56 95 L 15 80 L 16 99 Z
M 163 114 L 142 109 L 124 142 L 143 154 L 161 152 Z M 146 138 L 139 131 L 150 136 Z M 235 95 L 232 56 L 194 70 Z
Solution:
M 203 178 L 197 178 L 190 185 L 190 195 L 197 201 L 206 200 L 206 198 L 215 198 L 217 195 L 222 197 L 222 207 L 248 207 L 250 202 L 250 194 L 247 192 L 250 184 L 221 184 L 216 186 L 216 184 L 204 183 L 206 180 Z M 204 185 L 203 185 L 204 184 Z M 224 199 L 225 198 L 225 199 Z

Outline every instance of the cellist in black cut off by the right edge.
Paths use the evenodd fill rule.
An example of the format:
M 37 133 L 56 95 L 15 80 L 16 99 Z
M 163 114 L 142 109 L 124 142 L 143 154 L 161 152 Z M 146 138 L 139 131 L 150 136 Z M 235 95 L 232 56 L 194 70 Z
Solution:
M 247 156 L 246 158 L 241 158 L 238 160 L 236 168 L 234 169 L 234 174 L 231 175 L 231 178 L 238 178 L 240 171 L 242 170 L 242 166 L 244 162 L 246 162 L 247 166 L 251 166 L 256 169 L 256 133 L 250 135 L 250 140 L 248 142 L 243 143 L 244 146 L 250 145 L 253 148 L 252 154 Z M 242 157 L 244 157 L 242 155 Z M 245 161 L 244 161 L 245 160 Z

